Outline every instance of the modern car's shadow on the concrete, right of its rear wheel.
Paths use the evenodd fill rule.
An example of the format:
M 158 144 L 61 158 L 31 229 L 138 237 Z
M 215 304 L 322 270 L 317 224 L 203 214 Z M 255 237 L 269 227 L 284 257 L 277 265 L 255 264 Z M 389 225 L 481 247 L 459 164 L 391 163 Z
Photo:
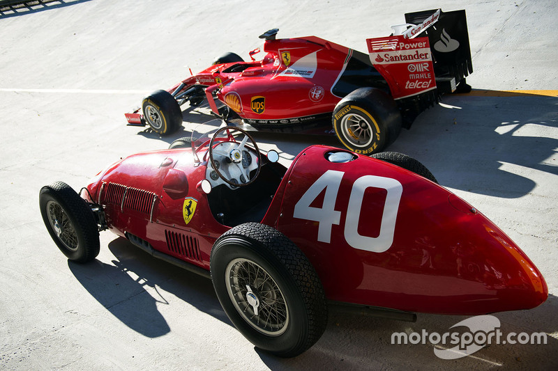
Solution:
M 488 196 L 519 198 L 537 172 L 558 175 L 558 97 L 473 90 L 442 102 L 389 150 L 415 157 L 446 187 Z

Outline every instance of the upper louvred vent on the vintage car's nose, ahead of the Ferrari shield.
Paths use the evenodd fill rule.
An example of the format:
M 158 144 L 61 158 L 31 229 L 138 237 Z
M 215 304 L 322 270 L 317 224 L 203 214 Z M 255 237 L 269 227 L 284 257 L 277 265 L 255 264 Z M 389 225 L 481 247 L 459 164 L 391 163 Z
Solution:
M 101 189 L 101 200 L 114 205 L 120 205 L 121 210 L 124 207 L 151 214 L 155 194 L 153 192 L 144 191 L 134 187 L 126 187 L 117 183 L 103 183 Z

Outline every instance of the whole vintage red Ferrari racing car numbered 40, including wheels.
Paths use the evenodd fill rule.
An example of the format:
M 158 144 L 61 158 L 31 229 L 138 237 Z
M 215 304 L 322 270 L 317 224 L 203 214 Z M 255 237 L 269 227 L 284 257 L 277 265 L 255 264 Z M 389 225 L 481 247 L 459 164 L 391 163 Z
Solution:
M 548 297 L 527 255 L 410 157 L 313 145 L 285 168 L 237 127 L 171 147 L 117 161 L 80 195 L 43 187 L 45 226 L 70 260 L 95 259 L 109 229 L 211 275 L 234 326 L 273 354 L 312 346 L 328 303 L 412 320 Z

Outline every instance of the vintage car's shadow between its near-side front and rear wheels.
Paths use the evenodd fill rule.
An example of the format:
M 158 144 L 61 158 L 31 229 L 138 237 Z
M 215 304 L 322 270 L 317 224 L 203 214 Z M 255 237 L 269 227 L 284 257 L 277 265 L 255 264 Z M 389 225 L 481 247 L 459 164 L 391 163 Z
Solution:
M 169 333 L 169 325 L 157 308 L 158 304 L 169 305 L 165 292 L 231 324 L 211 280 L 157 260 L 123 237 L 108 247 L 114 255 L 112 265 L 99 260 L 84 265 L 68 260 L 68 267 L 87 292 L 130 329 L 148 338 Z

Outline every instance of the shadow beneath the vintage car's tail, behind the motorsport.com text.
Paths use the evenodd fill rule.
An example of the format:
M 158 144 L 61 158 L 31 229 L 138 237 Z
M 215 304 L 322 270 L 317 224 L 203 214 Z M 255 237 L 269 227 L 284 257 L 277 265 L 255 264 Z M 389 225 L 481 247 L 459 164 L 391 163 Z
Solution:
M 550 295 L 548 300 L 538 308 L 493 314 L 500 321 L 501 341 L 492 340 L 469 356 L 463 356 L 455 345 L 435 346 L 430 342 L 430 334 L 458 333 L 459 340 L 467 344 L 469 329 L 456 326 L 458 322 L 473 316 L 425 315 L 418 314 L 416 322 L 401 322 L 391 319 L 352 315 L 330 310 L 329 323 L 322 338 L 307 352 L 292 359 L 277 358 L 265 352 L 257 351 L 260 358 L 271 370 L 380 370 L 395 369 L 438 369 L 450 368 L 462 370 L 484 370 L 489 368 L 506 368 L 508 370 L 529 370 L 534 365 L 544 365 L 545 369 L 556 369 L 558 356 L 548 359 L 548 348 L 558 349 L 558 340 L 546 336 L 546 343 L 510 344 L 511 339 L 525 340 L 527 333 L 536 339 L 538 332 L 556 333 L 558 319 L 557 297 Z M 412 333 L 420 335 L 420 342 L 398 344 L 394 333 Z M 426 333 L 423 342 L 423 333 Z M 535 334 L 535 335 L 533 335 Z M 411 337 L 409 337 L 411 339 Z M 437 341 L 436 338 L 432 338 Z M 451 339 L 449 336 L 447 339 Z M 496 339 L 493 337 L 492 339 Z M 504 342 L 506 342 L 504 344 Z M 530 342 L 530 340 L 529 340 Z M 446 351 L 446 354 L 462 356 L 455 360 L 439 358 L 434 348 Z M 448 350 L 449 349 L 449 350 Z M 420 364 L 416 363 L 421 360 Z M 554 367 L 553 367 L 554 366 Z

